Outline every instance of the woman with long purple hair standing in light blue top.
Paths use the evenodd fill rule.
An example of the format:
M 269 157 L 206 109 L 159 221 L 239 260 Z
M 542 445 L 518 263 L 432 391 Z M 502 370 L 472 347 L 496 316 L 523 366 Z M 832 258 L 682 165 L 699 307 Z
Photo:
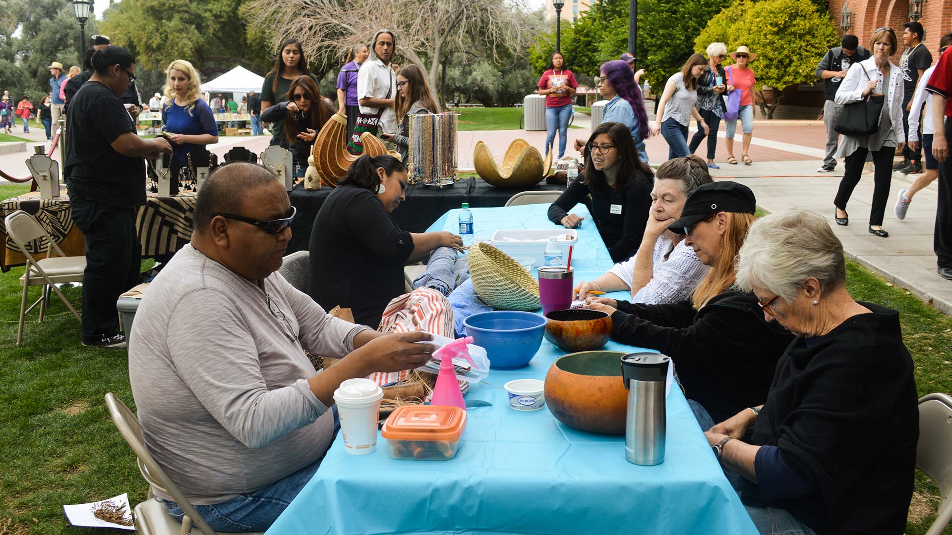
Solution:
M 622 123 L 631 131 L 631 139 L 638 149 L 638 158 L 648 163 L 648 154 L 645 151 L 645 138 L 651 134 L 648 129 L 648 114 L 645 111 L 645 101 L 642 99 L 642 90 L 631 77 L 631 69 L 622 60 L 609 61 L 602 64 L 599 77 L 599 92 L 602 93 L 608 104 L 602 112 L 603 123 Z M 581 149 L 583 142 L 575 142 L 576 148 Z

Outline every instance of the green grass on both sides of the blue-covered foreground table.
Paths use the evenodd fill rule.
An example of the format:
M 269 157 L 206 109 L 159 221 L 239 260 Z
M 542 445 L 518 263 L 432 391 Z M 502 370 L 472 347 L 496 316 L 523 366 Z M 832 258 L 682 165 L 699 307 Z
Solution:
M 12 188 L 24 187 L 0 187 L 0 198 L 15 193 Z M 847 269 L 853 297 L 900 310 L 919 395 L 952 392 L 952 318 L 853 262 Z M 82 347 L 79 323 L 55 296 L 47 322 L 37 323 L 33 312 L 24 344 L 16 347 L 22 273 L 0 274 L 0 535 L 114 534 L 69 526 L 62 505 L 123 492 L 133 505 L 146 498 L 135 457 L 103 402 L 111 391 L 135 409 L 126 349 Z M 81 289 L 64 292 L 78 307 Z M 35 299 L 39 288 L 30 295 Z M 938 487 L 919 474 L 906 533 L 925 533 L 938 504 Z

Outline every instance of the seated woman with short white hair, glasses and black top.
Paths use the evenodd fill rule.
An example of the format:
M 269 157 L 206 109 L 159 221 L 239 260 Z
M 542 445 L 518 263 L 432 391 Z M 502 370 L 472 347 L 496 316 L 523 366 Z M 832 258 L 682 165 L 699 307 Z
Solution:
M 761 533 L 905 529 L 919 438 L 912 358 L 899 313 L 855 301 L 845 282 L 823 216 L 789 209 L 747 233 L 737 286 L 797 338 L 763 406 L 702 427 Z

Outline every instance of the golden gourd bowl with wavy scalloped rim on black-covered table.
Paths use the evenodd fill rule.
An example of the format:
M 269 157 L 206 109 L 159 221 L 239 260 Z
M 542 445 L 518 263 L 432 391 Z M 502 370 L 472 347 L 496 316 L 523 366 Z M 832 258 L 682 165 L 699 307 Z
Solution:
M 513 141 L 506 149 L 503 163 L 497 164 L 482 141 L 473 149 L 473 167 L 480 177 L 496 188 L 531 188 L 542 182 L 548 169 L 552 167 L 552 151 L 543 160 L 539 149 L 532 147 L 525 139 Z

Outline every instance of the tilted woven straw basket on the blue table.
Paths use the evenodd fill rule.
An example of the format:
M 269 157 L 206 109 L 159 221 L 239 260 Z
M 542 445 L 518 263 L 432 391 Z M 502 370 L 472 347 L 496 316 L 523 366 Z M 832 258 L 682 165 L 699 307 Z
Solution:
M 476 295 L 498 310 L 536 310 L 539 283 L 505 252 L 486 243 L 469 248 L 469 275 Z

